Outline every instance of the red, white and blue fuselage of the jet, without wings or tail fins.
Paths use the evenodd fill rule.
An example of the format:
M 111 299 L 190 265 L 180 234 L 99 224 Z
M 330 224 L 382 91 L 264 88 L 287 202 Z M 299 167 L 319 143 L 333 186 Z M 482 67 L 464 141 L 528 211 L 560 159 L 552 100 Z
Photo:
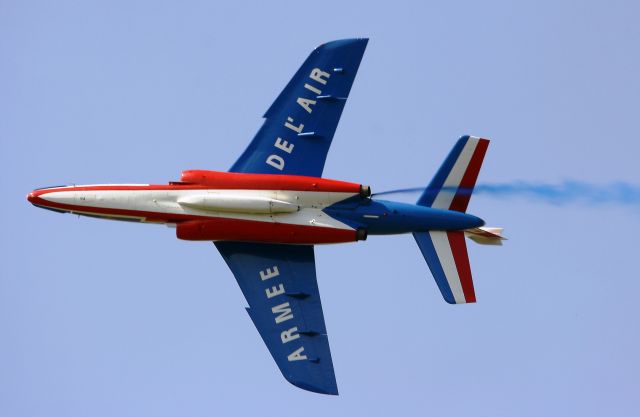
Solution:
M 369 197 L 369 187 L 323 178 L 185 171 L 168 185 L 51 187 L 28 200 L 59 212 L 176 225 L 185 240 L 341 243 L 484 224 L 465 213 Z

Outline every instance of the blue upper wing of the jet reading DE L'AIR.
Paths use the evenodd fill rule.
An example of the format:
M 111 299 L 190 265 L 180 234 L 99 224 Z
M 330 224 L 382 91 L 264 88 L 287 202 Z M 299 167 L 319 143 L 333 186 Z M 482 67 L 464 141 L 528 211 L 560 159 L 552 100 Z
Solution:
M 322 176 L 367 39 L 317 47 L 264 114 L 230 172 Z

